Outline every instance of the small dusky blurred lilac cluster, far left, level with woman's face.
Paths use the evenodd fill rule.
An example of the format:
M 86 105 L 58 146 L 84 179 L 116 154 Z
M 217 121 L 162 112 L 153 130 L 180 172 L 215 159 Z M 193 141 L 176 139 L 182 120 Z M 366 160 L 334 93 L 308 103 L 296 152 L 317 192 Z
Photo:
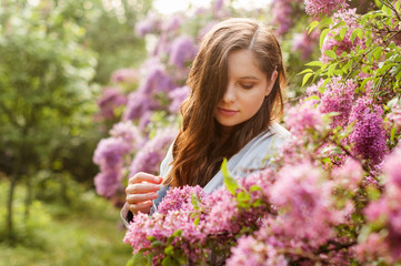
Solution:
M 116 109 L 127 103 L 127 98 L 118 88 L 104 88 L 97 101 L 100 108 L 100 115 L 104 119 L 114 119 Z

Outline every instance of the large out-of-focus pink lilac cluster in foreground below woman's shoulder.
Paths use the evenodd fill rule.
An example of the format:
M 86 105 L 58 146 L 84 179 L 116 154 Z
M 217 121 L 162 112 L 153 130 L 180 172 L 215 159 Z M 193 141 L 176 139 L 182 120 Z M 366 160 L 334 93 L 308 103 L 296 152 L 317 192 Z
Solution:
M 322 180 L 322 172 L 310 162 L 284 165 L 270 190 L 270 202 L 287 214 L 280 231 L 308 239 L 319 247 L 333 236 L 333 225 L 343 217 L 333 207 L 332 182 Z

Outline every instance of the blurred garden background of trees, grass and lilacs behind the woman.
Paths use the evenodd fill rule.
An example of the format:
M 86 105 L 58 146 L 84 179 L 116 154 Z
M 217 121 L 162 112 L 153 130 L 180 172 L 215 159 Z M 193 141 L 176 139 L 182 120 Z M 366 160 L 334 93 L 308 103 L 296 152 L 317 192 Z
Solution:
M 382 7 L 348 4 L 355 14 Z M 292 105 L 314 74 L 298 73 L 321 58 L 332 23 L 317 27 L 304 9 L 301 0 L 1 0 L 0 266 L 126 265 L 127 178 L 158 172 L 199 40 L 229 17 L 269 24 Z

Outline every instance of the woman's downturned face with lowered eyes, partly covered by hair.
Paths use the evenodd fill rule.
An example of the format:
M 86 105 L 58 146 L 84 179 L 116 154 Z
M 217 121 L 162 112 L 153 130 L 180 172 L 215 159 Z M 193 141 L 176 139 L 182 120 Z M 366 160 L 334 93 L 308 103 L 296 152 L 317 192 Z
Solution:
M 277 79 L 268 81 L 249 50 L 238 50 L 228 58 L 228 84 L 214 112 L 215 120 L 227 129 L 251 119 L 262 106 Z

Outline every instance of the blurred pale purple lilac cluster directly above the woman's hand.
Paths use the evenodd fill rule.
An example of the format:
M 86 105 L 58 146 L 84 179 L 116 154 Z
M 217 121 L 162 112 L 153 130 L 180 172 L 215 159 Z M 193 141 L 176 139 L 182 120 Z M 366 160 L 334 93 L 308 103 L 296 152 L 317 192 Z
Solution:
M 159 165 L 166 155 L 167 149 L 176 135 L 176 130 L 164 129 L 159 131 L 153 139 L 144 143 L 131 163 L 130 176 L 138 172 L 158 173 Z

